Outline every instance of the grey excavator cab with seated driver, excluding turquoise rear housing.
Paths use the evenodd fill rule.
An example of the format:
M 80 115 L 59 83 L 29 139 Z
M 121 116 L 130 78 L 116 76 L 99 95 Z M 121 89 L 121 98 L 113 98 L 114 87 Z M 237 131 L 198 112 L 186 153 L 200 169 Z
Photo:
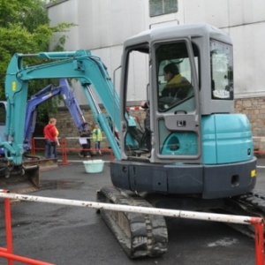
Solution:
M 138 80 L 136 89 L 149 84 L 146 98 L 141 99 L 139 93 L 137 100 L 149 102 L 150 161 L 203 163 L 204 117 L 233 110 L 233 94 L 227 90 L 230 86 L 232 91 L 233 84 L 230 37 L 206 25 L 154 29 L 125 42 L 125 55 L 121 85 L 125 87 L 121 97 L 126 98 L 124 104 L 132 101 L 131 86 L 136 81 L 131 77 L 137 72 L 147 73 L 147 79 Z M 165 72 L 169 67 L 173 74 Z M 122 128 L 127 128 L 126 120 L 122 122 Z M 129 150 L 125 149 L 125 155 L 131 156 Z

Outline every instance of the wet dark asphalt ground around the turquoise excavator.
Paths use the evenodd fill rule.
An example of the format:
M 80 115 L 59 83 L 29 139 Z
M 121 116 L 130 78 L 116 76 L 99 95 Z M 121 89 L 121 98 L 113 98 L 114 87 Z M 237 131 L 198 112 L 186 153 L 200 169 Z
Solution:
M 69 158 L 69 157 L 68 157 Z M 101 173 L 87 174 L 79 157 L 41 173 L 42 188 L 30 195 L 95 201 L 110 183 L 110 157 Z M 59 162 L 60 163 L 60 162 Z M 257 189 L 265 187 L 265 159 L 258 159 Z M 129 259 L 94 208 L 34 201 L 11 204 L 14 254 L 57 265 L 83 264 L 255 264 L 254 239 L 224 223 L 166 217 L 168 252 L 159 258 Z M 4 204 L 0 203 L 0 247 L 5 247 Z M 0 264 L 8 264 L 0 258 Z M 14 262 L 14 264 L 24 264 Z

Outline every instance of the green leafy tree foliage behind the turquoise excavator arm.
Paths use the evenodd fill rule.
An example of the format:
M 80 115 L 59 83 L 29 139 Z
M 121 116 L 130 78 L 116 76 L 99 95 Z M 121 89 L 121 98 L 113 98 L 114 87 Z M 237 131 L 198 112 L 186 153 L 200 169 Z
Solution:
M 48 11 L 44 7 L 47 1 L 42 0 L 0 0 L 0 99 L 4 100 L 4 79 L 7 66 L 15 53 L 32 54 L 48 51 L 49 45 L 54 50 L 64 50 L 65 34 L 55 42 L 56 33 L 66 33 L 75 26 L 72 23 L 60 23 L 49 26 Z M 25 59 L 27 64 L 33 64 L 34 58 Z M 31 81 L 28 97 L 34 95 L 51 80 Z M 49 110 L 57 109 L 57 100 L 45 102 L 38 113 L 43 116 Z M 42 119 L 42 117 L 41 117 Z

